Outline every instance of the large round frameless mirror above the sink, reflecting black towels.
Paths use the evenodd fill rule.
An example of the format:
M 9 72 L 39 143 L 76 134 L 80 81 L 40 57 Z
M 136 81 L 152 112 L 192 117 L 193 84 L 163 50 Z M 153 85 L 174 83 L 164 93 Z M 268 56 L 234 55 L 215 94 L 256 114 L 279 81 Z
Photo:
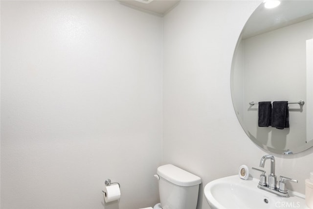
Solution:
M 275 8 L 265 4 L 253 12 L 238 40 L 232 101 L 255 144 L 273 153 L 298 153 L 313 146 L 313 1 L 286 0 Z M 259 110 L 263 101 L 271 103 Z M 266 125 L 260 125 L 264 119 Z M 289 125 L 277 128 L 277 121 Z

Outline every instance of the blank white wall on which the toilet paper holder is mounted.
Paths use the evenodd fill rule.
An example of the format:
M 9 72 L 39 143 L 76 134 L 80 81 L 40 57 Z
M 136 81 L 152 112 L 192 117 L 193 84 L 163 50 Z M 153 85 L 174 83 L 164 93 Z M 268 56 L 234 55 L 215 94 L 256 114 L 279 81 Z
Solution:
M 1 209 L 158 202 L 161 27 L 116 1 L 1 1 Z

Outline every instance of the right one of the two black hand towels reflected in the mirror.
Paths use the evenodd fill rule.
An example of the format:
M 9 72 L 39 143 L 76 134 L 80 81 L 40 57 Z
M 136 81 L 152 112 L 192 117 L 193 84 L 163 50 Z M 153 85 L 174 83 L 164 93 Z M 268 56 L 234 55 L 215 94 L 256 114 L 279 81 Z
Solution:
M 272 127 L 277 129 L 289 128 L 288 101 L 273 102 Z

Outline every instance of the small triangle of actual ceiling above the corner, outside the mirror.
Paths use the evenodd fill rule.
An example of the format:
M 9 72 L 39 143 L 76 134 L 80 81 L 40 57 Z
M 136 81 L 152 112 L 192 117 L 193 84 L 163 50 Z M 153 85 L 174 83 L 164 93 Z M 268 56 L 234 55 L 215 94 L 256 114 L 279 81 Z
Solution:
M 152 0 L 150 3 L 143 3 L 137 0 L 117 0 L 120 3 L 134 9 L 163 16 L 174 8 L 180 0 Z

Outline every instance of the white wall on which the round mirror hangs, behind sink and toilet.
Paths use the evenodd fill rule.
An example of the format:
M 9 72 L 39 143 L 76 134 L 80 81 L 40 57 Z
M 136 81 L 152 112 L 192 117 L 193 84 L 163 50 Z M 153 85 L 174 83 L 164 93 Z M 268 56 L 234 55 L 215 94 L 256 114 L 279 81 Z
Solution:
M 182 1 L 164 18 L 163 163 L 199 175 L 202 189 L 237 174 L 241 164 L 251 170 L 267 153 L 241 128 L 229 84 L 237 39 L 260 2 Z M 288 186 L 304 193 L 304 180 L 313 171 L 312 149 L 274 156 L 276 174 L 297 179 Z M 198 209 L 208 209 L 202 189 Z

